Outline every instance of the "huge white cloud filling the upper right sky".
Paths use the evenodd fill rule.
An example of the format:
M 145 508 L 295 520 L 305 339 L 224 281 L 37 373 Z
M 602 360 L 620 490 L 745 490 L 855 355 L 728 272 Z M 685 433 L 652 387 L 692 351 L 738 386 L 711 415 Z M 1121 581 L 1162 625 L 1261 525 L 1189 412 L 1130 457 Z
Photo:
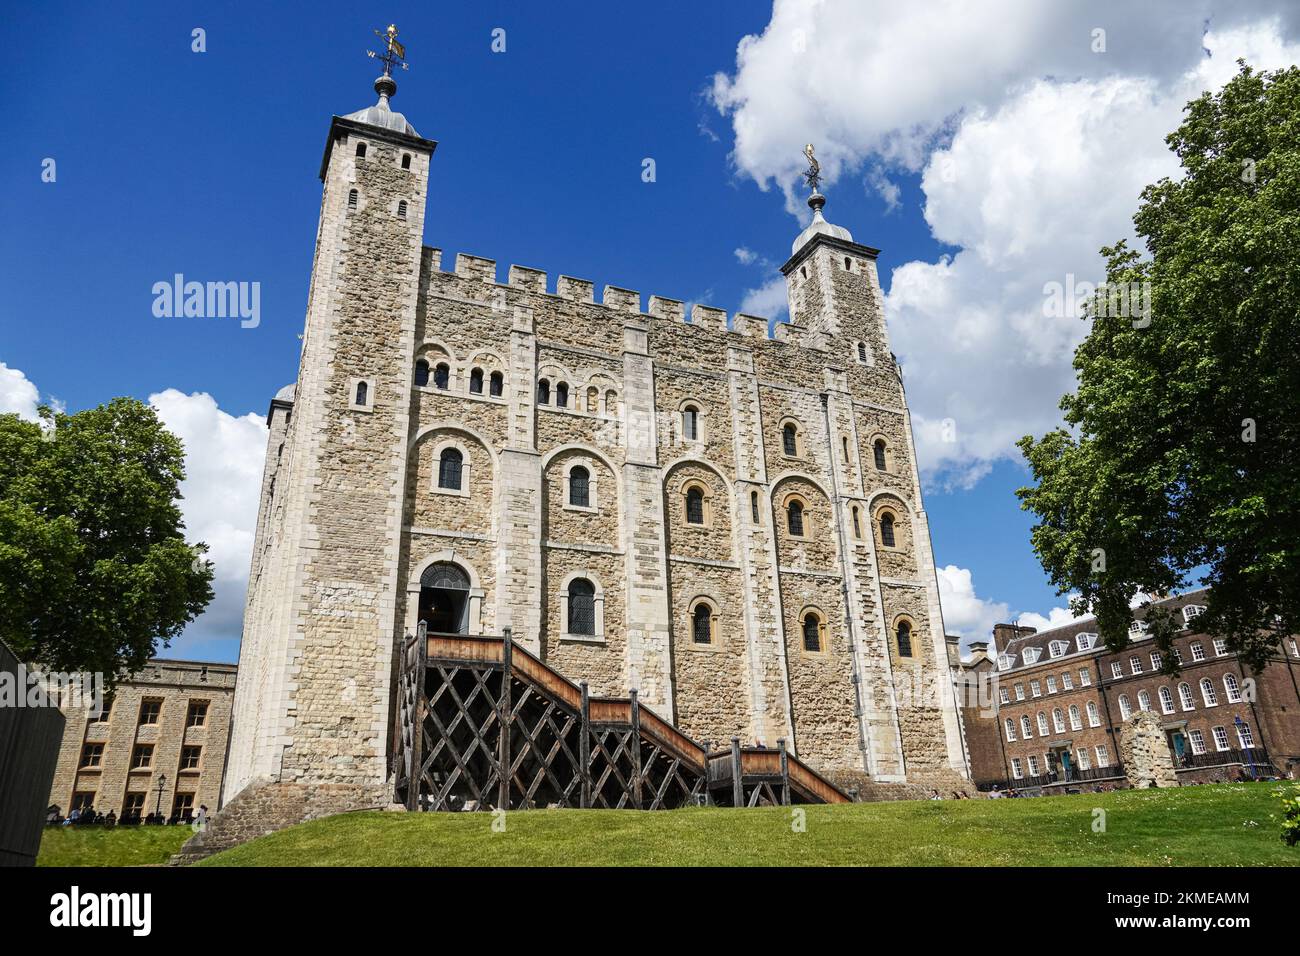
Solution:
M 796 215 L 805 142 L 831 183 L 858 168 L 868 186 L 890 165 L 920 172 L 926 222 L 958 251 L 894 269 L 885 312 L 926 476 L 970 486 L 1000 458 L 1018 460 L 1020 436 L 1058 424 L 1074 386 L 1087 329 L 1044 315 L 1044 285 L 1101 278 L 1097 250 L 1131 237 L 1141 187 L 1178 172 L 1164 137 L 1183 105 L 1222 86 L 1239 56 L 1300 60 L 1286 39 L 1300 8 L 935 7 L 777 0 L 712 98 L 732 120 L 737 168 L 777 185 Z M 1096 27 L 1105 53 L 1091 49 Z

